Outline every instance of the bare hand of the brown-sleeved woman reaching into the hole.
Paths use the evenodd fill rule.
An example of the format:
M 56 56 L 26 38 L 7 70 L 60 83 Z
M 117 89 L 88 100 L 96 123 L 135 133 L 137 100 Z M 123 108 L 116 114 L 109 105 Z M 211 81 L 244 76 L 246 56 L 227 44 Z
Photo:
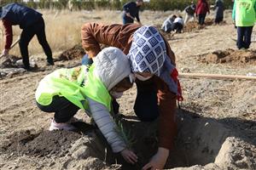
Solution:
M 166 160 L 169 156 L 169 150 L 165 148 L 159 148 L 158 152 L 151 158 L 151 160 L 143 167 L 143 170 L 156 170 L 163 169 L 166 164 Z

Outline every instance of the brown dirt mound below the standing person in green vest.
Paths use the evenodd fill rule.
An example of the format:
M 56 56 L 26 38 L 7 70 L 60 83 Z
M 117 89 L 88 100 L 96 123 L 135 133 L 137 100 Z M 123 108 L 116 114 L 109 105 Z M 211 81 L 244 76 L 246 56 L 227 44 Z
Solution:
M 207 64 L 256 64 L 255 50 L 217 50 L 209 54 L 202 54 L 198 58 L 199 61 Z

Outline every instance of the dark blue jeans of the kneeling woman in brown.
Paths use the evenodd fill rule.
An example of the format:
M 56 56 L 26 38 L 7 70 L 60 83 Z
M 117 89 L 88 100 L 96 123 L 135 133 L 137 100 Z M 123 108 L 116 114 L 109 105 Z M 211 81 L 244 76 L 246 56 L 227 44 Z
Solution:
M 92 59 L 88 58 L 85 54 L 82 59 L 82 65 L 91 65 Z M 154 90 L 154 82 L 149 79 L 148 81 L 136 81 L 137 84 L 137 97 L 133 107 L 137 117 L 143 122 L 152 122 L 159 116 L 159 106 L 157 105 L 156 91 Z M 112 102 L 113 113 L 119 113 L 119 104 L 113 99 Z

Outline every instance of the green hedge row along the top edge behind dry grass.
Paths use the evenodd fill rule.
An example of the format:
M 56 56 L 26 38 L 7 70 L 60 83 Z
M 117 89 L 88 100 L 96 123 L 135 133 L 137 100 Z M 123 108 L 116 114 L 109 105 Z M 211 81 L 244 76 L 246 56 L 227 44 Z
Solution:
M 0 0 L 0 5 L 4 5 L 7 3 L 25 3 L 24 0 Z M 73 4 L 73 8 L 80 9 L 95 9 L 95 8 L 108 8 L 114 10 L 122 9 L 122 6 L 129 2 L 129 0 L 71 0 Z M 180 9 L 183 10 L 191 0 L 150 0 L 149 2 L 145 2 L 143 5 L 143 9 L 152 9 L 152 10 L 173 10 Z M 194 1 L 197 2 L 196 0 Z M 210 4 L 214 4 L 215 0 L 210 0 Z M 63 9 L 68 7 L 68 0 L 29 0 L 25 3 L 27 6 L 31 8 L 58 8 Z M 225 8 L 232 8 L 232 1 L 224 1 Z

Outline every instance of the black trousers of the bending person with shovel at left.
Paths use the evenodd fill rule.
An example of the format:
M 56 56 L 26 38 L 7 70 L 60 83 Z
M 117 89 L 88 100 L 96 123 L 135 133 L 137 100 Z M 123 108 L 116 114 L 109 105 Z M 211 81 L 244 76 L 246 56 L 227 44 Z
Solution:
M 20 42 L 19 42 L 19 44 L 20 44 L 20 54 L 22 56 L 23 65 L 25 66 L 25 68 L 29 68 L 29 59 L 28 59 L 27 46 L 28 46 L 29 42 L 32 40 L 32 37 L 34 37 L 34 35 L 37 35 L 38 42 L 44 48 L 44 54 L 46 54 L 46 56 L 47 56 L 47 61 L 49 63 L 53 62 L 51 49 L 49 48 L 49 44 L 46 40 L 44 29 L 45 29 L 44 19 L 40 18 L 40 20 L 38 20 L 32 26 L 24 28 L 23 31 L 21 32 Z

